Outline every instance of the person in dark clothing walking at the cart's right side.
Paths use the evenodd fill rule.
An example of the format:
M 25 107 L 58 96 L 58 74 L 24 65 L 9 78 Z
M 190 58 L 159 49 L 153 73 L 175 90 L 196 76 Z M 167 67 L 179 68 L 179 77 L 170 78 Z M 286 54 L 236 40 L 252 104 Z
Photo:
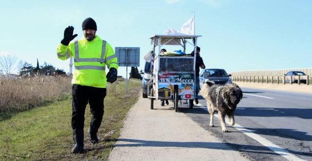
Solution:
M 198 92 L 199 92 L 199 67 L 205 69 L 206 66 L 203 59 L 200 57 L 200 47 L 196 46 L 196 62 L 195 62 L 195 104 L 198 104 Z M 194 57 L 194 51 L 191 53 Z

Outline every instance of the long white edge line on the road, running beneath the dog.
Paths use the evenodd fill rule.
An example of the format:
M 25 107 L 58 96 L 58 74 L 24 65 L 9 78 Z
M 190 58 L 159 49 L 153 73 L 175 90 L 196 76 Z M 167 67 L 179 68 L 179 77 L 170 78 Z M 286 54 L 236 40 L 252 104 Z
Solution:
M 205 106 L 203 106 L 200 103 L 198 103 L 197 105 L 201 106 L 201 107 L 205 107 Z M 214 116 L 218 118 L 217 114 L 215 114 Z M 226 123 L 229 124 L 229 121 L 227 119 L 226 119 Z M 239 125 L 238 123 L 235 123 L 235 125 L 232 126 L 232 127 L 234 127 L 235 129 L 239 130 L 240 132 L 244 133 L 245 135 L 253 138 L 254 140 L 258 141 L 262 145 L 268 147 L 273 152 L 281 155 L 282 157 L 286 158 L 289 161 L 305 161 L 305 160 L 302 160 L 302 159 L 296 157 L 295 155 L 293 155 L 289 151 L 283 149 L 282 147 L 273 144 L 273 142 L 268 141 L 267 139 L 261 137 L 260 135 L 255 134 L 252 130 L 244 128 L 243 126 Z

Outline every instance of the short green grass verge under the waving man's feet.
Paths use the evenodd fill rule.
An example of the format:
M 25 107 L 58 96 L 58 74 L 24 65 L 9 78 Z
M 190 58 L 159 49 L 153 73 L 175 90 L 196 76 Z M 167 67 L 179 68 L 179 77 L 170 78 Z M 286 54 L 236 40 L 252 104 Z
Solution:
M 74 145 L 71 129 L 72 100 L 20 112 L 11 118 L 0 121 L 0 160 L 107 160 L 123 120 L 130 107 L 140 96 L 140 81 L 118 79 L 107 86 L 104 100 L 104 118 L 98 131 L 99 143 L 88 140 L 91 113 L 87 106 L 85 114 L 85 154 L 71 154 Z

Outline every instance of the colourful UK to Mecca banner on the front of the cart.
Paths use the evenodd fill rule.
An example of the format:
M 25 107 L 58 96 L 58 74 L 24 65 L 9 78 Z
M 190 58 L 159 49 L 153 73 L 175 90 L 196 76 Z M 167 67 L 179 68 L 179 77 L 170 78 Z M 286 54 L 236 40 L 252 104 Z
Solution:
M 174 95 L 174 85 L 179 88 L 178 95 L 181 99 L 194 99 L 195 77 L 194 73 L 158 73 L 158 97 L 159 99 L 171 99 Z

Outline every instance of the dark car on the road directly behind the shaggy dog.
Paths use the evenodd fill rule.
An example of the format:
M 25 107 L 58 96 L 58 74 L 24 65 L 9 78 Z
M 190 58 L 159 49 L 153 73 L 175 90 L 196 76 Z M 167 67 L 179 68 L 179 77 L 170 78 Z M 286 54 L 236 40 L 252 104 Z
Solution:
M 228 75 L 224 69 L 204 69 L 199 75 L 199 83 L 205 83 L 206 80 L 212 80 L 215 84 L 228 84 L 232 83 L 230 78 L 232 75 Z

